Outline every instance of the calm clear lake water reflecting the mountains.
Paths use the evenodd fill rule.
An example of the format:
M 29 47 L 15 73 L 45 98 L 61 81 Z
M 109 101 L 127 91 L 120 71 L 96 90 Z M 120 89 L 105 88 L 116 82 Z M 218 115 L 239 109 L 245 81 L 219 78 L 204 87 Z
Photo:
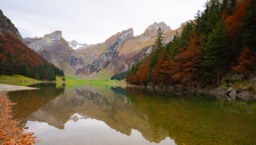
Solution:
M 10 92 L 38 144 L 256 144 L 255 101 L 112 86 Z

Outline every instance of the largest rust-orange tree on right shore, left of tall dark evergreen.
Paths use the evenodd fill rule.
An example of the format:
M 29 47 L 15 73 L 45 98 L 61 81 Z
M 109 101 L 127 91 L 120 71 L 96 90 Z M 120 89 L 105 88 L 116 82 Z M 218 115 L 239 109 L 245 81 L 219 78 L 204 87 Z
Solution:
M 190 34 L 186 49 L 181 49 L 172 61 L 173 82 L 193 86 L 201 80 L 201 62 L 203 58 L 204 36 L 197 37 L 195 31 Z

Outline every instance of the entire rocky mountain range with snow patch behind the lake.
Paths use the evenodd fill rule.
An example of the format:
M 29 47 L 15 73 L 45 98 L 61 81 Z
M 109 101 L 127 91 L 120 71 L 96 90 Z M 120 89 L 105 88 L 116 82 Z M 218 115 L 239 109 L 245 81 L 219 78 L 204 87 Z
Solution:
M 64 69 L 67 75 L 87 77 L 103 69 L 110 74 L 127 71 L 129 66 L 149 54 L 159 27 L 165 33 L 164 43 L 168 43 L 176 31 L 180 33 L 182 28 L 171 30 L 164 22 L 154 22 L 139 36 L 134 36 L 133 28 L 129 28 L 93 45 L 66 41 L 61 31 L 23 40 L 49 62 Z

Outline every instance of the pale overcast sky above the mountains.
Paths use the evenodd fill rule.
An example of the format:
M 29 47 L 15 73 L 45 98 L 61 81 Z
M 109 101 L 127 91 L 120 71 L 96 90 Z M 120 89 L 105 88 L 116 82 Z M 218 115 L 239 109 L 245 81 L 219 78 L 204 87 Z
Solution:
M 194 19 L 206 0 L 0 0 L 0 9 L 22 37 L 62 31 L 66 40 L 95 44 L 133 28 L 140 35 L 153 22 L 172 30 Z

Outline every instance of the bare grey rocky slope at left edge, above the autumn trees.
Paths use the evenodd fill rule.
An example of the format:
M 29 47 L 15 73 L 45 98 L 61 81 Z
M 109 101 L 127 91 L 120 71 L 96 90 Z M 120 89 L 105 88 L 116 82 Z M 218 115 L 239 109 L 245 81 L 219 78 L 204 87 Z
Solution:
M 18 29 L 0 10 L 0 34 L 4 36 L 4 33 L 10 33 L 13 37 L 22 41 L 22 37 L 21 34 L 19 34 Z

